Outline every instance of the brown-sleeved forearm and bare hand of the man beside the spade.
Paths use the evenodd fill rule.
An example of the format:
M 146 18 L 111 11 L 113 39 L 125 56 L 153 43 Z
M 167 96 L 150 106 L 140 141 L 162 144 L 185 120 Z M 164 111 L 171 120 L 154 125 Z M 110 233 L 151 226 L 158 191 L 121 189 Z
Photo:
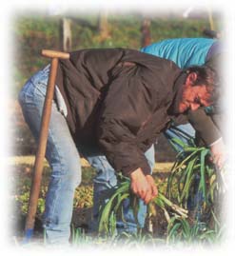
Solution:
M 104 119 L 98 130 L 99 143 L 108 162 L 114 169 L 121 170 L 130 177 L 132 191 L 147 204 L 157 195 L 157 187 L 135 135 L 118 118 L 118 112 L 116 118 Z

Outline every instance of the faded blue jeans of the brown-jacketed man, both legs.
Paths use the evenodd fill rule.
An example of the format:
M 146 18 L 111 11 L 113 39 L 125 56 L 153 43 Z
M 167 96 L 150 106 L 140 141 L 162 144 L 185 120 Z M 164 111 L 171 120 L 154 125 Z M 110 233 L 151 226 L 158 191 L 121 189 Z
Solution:
M 40 124 L 43 106 L 49 79 L 49 67 L 34 74 L 23 89 L 19 92 L 19 103 L 29 129 L 36 142 L 39 140 Z M 49 244 L 68 244 L 70 236 L 70 221 L 72 216 L 73 198 L 76 187 L 81 183 L 81 164 L 77 145 L 70 135 L 65 116 L 53 101 L 49 122 L 49 137 L 46 149 L 46 158 L 51 167 L 49 188 L 46 196 L 46 207 L 43 225 Z M 146 152 L 148 163 L 154 167 L 154 150 Z M 93 180 L 93 218 L 90 229 L 96 230 L 98 226 L 99 208 L 106 200 L 101 200 L 110 188 L 117 185 L 116 173 L 108 163 L 106 156 L 86 156 L 89 164 L 97 171 Z M 137 226 L 144 226 L 147 206 L 140 200 L 138 222 L 126 202 L 124 210 L 125 223 L 118 222 L 117 228 L 135 232 Z

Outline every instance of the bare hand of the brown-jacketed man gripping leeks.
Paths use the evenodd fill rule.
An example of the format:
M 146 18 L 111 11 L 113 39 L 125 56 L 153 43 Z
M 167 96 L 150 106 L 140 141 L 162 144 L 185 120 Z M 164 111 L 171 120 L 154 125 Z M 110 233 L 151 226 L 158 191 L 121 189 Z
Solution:
M 130 173 L 130 181 L 133 193 L 139 196 L 146 204 L 158 193 L 151 175 L 145 176 L 141 168 L 137 168 Z

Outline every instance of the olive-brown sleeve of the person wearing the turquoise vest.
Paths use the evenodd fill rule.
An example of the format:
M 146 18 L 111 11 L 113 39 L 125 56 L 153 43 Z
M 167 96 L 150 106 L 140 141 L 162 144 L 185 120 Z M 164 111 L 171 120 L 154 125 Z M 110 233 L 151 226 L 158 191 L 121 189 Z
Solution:
M 216 126 L 210 115 L 207 115 L 204 108 L 188 111 L 188 121 L 195 128 L 199 137 L 206 146 L 210 146 L 222 137 L 220 129 Z

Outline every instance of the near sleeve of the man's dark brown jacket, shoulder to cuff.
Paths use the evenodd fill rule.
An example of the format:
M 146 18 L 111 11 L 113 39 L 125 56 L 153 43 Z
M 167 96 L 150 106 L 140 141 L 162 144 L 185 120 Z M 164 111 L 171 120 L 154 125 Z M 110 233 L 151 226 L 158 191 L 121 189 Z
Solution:
M 111 82 L 97 128 L 99 144 L 109 163 L 124 175 L 138 167 L 150 173 L 137 137 L 151 115 L 152 93 L 140 80 L 122 72 Z

